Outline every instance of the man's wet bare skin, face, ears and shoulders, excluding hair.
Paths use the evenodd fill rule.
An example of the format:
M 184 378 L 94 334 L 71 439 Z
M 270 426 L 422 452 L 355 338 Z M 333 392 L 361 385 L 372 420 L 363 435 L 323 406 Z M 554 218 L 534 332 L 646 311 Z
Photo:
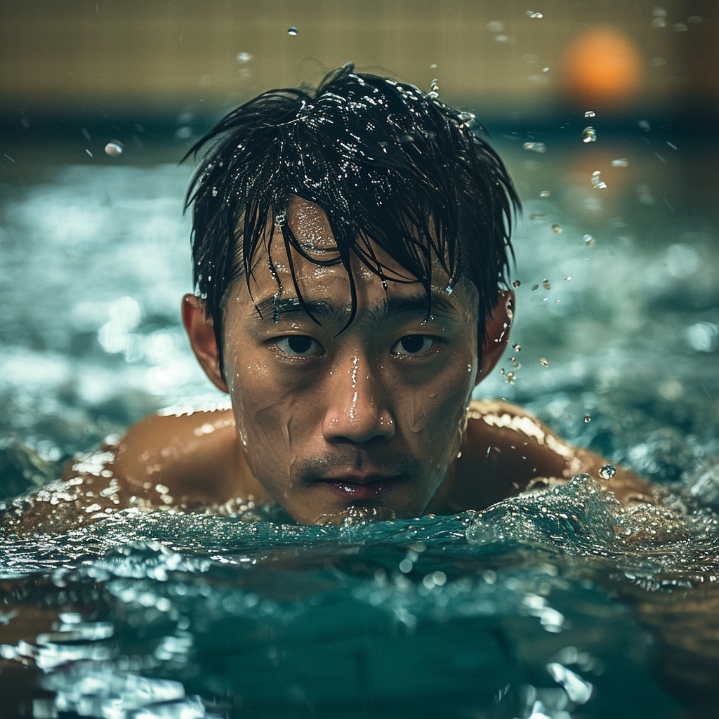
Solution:
M 296 199 L 288 221 L 313 256 L 334 255 L 319 207 Z M 193 350 L 229 393 L 232 410 L 145 418 L 105 448 L 101 462 L 70 464 L 68 496 L 33 503 L 20 524 L 65 528 L 131 506 L 236 510 L 248 501 L 274 501 L 299 523 L 336 523 L 358 512 L 411 518 L 482 509 L 577 472 L 598 478 L 604 459 L 568 446 L 521 409 L 470 403 L 508 343 L 512 293 L 500 293 L 480 342 L 477 290 L 466 279 L 448 295 L 435 263 L 428 318 L 421 285 L 385 288 L 357 261 L 357 316 L 347 326 L 347 273 L 294 253 L 298 286 L 318 324 L 298 304 L 278 242 L 275 232 L 278 303 L 264 251 L 249 290 L 242 278 L 226 293 L 224 372 L 203 302 L 183 298 Z M 624 502 L 651 500 L 649 485 L 626 470 L 605 484 Z

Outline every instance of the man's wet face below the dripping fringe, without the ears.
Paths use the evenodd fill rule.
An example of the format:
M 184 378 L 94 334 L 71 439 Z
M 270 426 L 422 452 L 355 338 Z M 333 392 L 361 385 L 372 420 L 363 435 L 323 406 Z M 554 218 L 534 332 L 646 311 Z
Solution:
M 288 222 L 313 257 L 336 255 L 318 206 L 295 198 Z M 272 249 L 278 301 L 260 253 L 252 297 L 237 281 L 224 315 L 225 374 L 253 475 L 299 523 L 339 521 L 352 508 L 420 516 L 459 451 L 477 376 L 477 290 L 462 280 L 447 295 L 438 263 L 427 319 L 419 283 L 389 281 L 385 290 L 357 262 L 357 316 L 342 331 L 344 269 L 293 255 L 318 325 L 297 301 L 278 229 Z

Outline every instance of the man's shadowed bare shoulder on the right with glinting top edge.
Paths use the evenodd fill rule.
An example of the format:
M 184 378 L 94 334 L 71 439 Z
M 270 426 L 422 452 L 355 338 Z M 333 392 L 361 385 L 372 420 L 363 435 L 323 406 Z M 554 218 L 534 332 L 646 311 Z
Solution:
M 564 441 L 522 408 L 501 400 L 470 405 L 462 452 L 437 495 L 452 511 L 483 509 L 525 490 L 567 482 L 580 472 L 595 477 L 624 504 L 654 502 L 651 485 L 622 467 L 608 480 L 608 464 Z M 433 502 L 434 505 L 434 502 Z

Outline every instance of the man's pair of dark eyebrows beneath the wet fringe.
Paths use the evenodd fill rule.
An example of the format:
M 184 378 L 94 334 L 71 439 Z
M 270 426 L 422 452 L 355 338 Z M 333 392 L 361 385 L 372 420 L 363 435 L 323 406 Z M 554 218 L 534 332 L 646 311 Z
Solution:
M 449 301 L 449 298 L 441 293 L 431 292 L 431 316 L 439 314 L 448 318 L 457 316 L 457 308 Z M 257 303 L 257 313 L 260 319 L 275 319 L 293 314 L 310 314 L 317 319 L 327 319 L 336 324 L 347 320 L 350 305 L 336 305 L 327 300 L 305 301 L 301 303 L 296 297 L 276 299 L 268 297 Z M 399 316 L 427 314 L 427 296 L 418 294 L 411 296 L 389 297 L 377 303 L 362 313 L 362 320 L 372 323 L 383 322 Z

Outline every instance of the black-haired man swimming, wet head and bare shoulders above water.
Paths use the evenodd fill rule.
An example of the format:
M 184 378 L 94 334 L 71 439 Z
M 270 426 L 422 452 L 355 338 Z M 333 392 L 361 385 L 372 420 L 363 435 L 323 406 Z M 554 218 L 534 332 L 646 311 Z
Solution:
M 224 117 L 191 150 L 204 155 L 182 318 L 231 406 L 145 418 L 6 523 L 267 503 L 298 523 L 413 518 L 579 472 L 651 501 L 647 482 L 600 477 L 605 459 L 521 409 L 471 399 L 509 342 L 519 206 L 472 120 L 352 65 Z

